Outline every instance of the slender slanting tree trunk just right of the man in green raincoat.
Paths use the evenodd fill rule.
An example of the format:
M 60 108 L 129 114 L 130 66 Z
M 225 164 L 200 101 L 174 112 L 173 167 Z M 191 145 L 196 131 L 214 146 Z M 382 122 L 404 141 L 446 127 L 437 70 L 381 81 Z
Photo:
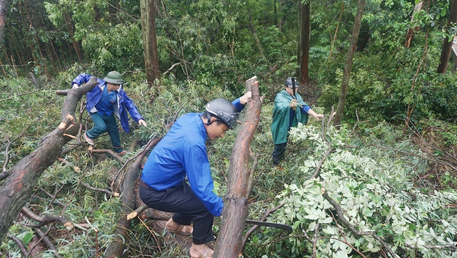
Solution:
M 352 28 L 351 43 L 349 43 L 346 61 L 344 62 L 343 82 L 341 83 L 340 97 L 338 99 L 338 106 L 336 107 L 335 120 L 333 125 L 339 126 L 341 118 L 343 117 L 344 103 L 348 94 L 349 76 L 351 74 L 351 67 L 353 62 L 354 53 L 356 53 L 358 33 L 362 23 L 363 9 L 365 9 L 365 0 L 358 0 L 356 19 L 354 19 L 354 26 Z

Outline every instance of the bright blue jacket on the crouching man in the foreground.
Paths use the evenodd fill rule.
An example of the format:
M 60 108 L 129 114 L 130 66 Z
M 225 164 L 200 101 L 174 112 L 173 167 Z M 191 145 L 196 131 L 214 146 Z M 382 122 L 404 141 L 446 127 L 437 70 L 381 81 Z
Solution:
M 233 101 L 238 111 L 244 106 Z M 155 190 L 175 187 L 187 179 L 194 194 L 214 216 L 221 215 L 224 202 L 214 190 L 205 142 L 208 138 L 201 113 L 181 116 L 156 145 L 144 165 L 141 180 Z

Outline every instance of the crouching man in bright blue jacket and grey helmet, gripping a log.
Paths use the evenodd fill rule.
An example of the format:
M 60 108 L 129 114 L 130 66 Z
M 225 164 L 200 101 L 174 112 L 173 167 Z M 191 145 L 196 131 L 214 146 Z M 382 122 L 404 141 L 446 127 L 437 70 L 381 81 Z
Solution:
M 183 115 L 151 151 L 144 165 L 141 200 L 153 209 L 174 212 L 166 228 L 193 234 L 191 257 L 212 257 L 213 250 L 205 243 L 214 240 L 214 216 L 220 216 L 224 207 L 222 198 L 213 192 L 205 142 L 222 138 L 233 129 L 249 98 L 250 91 L 232 103 L 216 98 L 206 104 L 205 113 Z

